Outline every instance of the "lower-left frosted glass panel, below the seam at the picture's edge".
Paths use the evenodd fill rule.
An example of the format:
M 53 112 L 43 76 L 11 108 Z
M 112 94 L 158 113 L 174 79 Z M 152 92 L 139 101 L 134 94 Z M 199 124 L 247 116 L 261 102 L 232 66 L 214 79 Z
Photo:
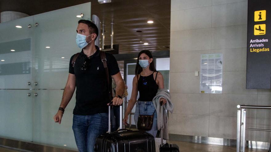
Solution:
M 32 141 L 32 96 L 32 90 L 0 90 L 1 137 Z

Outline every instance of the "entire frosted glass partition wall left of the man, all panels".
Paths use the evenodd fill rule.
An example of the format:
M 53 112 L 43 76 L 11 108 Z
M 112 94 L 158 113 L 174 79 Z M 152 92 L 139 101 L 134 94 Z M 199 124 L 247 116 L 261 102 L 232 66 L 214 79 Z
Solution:
M 83 18 L 77 18 L 81 13 Z M 0 24 L 1 137 L 76 149 L 75 95 L 61 125 L 53 116 L 70 57 L 81 51 L 75 43 L 78 21 L 90 17 L 89 2 Z

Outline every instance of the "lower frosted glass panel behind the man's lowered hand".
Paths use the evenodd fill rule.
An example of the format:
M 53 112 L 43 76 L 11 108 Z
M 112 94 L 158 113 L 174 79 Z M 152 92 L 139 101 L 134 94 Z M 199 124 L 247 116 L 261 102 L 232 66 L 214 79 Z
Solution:
M 55 123 L 54 115 L 58 111 L 63 90 L 35 90 L 34 97 L 34 133 L 33 141 L 53 146 L 76 149 L 72 131 L 75 95 L 65 109 L 61 124 Z

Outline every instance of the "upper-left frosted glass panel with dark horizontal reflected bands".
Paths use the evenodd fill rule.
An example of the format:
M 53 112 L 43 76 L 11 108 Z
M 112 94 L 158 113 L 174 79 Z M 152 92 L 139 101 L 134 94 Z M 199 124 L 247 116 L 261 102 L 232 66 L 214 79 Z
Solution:
M 0 89 L 31 88 L 33 28 L 28 25 L 33 25 L 33 17 L 0 24 L 0 60 L 5 60 L 0 61 Z

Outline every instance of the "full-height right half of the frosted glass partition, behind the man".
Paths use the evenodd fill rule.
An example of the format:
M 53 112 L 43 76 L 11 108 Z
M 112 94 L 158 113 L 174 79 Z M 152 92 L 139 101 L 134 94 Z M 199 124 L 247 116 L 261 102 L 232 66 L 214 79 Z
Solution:
M 91 3 L 84 3 L 34 15 L 34 119 L 33 141 L 76 149 L 72 131 L 75 94 L 65 109 L 61 124 L 55 123 L 63 89 L 67 83 L 72 55 L 81 52 L 76 45 L 80 19 L 90 20 Z M 84 14 L 83 18 L 77 15 Z M 66 145 L 66 146 L 64 146 Z

